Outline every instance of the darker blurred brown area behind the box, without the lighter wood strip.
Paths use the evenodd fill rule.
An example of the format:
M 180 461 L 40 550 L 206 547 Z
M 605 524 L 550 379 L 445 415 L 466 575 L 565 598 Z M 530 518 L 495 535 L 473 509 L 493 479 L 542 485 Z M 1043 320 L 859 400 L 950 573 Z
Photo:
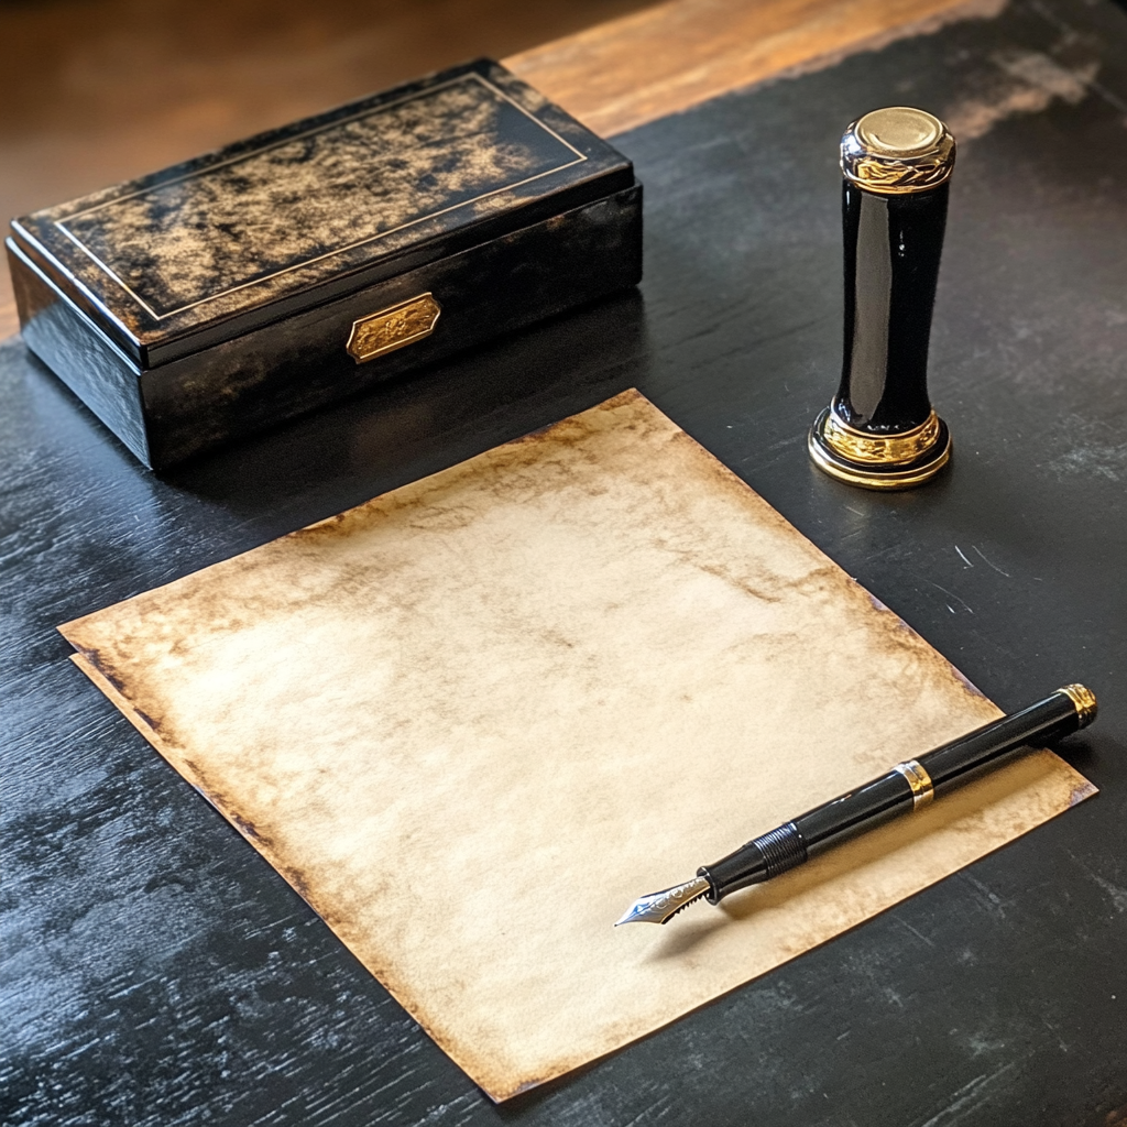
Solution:
M 646 2 L 0 0 L 0 219 Z

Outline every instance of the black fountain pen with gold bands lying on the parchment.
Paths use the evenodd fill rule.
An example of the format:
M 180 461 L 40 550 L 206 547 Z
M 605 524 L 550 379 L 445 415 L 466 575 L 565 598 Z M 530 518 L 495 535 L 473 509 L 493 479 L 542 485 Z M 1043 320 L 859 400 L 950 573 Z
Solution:
M 639 897 L 615 923 L 666 923 L 699 899 L 719 904 L 729 893 L 793 869 L 811 857 L 855 837 L 907 810 L 919 810 L 1010 752 L 1050 743 L 1095 719 L 1095 694 L 1065 685 L 1029 708 L 1002 717 L 917 760 L 897 763 L 887 774 L 808 810 L 735 853 L 703 864 L 692 880 Z

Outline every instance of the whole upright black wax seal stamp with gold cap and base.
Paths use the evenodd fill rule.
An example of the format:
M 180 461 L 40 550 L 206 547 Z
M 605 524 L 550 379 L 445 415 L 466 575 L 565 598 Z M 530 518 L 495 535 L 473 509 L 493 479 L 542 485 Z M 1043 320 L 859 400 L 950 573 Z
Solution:
M 906 489 L 951 456 L 928 397 L 928 341 L 955 139 L 922 109 L 875 109 L 842 136 L 841 167 L 842 381 L 810 429 L 810 456 L 850 485 Z

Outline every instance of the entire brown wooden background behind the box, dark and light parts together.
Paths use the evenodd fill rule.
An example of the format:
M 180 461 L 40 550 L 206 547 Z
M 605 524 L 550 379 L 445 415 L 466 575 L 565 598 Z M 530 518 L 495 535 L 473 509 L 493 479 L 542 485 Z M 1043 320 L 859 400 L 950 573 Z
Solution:
M 0 220 L 478 55 L 610 136 L 1003 3 L 0 0 Z

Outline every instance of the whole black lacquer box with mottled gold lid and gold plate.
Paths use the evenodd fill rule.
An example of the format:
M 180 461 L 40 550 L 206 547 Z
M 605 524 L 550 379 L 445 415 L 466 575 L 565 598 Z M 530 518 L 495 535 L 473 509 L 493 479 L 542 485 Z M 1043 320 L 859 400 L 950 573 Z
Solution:
M 14 220 L 24 340 L 160 468 L 638 283 L 621 153 L 488 60 Z

